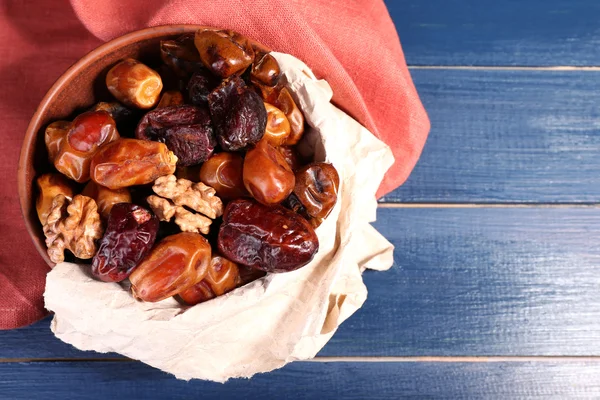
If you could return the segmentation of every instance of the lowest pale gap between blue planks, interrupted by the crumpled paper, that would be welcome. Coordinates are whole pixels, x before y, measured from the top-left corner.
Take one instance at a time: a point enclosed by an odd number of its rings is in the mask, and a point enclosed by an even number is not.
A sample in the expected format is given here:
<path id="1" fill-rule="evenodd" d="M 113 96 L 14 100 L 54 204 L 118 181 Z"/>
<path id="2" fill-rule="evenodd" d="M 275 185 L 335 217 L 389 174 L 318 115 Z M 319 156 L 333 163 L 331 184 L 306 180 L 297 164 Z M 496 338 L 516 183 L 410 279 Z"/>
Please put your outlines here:
<path id="1" fill-rule="evenodd" d="M 405 356 L 405 357 L 315 357 L 312 360 L 299 362 L 317 363 L 525 363 L 525 362 L 590 362 L 600 364 L 600 356 Z M 137 362 L 130 358 L 3 358 L 0 363 L 34 363 L 34 362 Z"/>

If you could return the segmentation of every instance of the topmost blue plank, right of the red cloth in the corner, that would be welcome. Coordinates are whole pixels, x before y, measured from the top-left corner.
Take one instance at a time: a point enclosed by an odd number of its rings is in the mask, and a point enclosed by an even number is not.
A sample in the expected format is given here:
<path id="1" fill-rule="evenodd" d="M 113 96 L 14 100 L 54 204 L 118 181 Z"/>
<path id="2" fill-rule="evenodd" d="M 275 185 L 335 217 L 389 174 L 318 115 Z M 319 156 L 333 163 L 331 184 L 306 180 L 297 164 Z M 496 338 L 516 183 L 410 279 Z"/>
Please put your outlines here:
<path id="1" fill-rule="evenodd" d="M 600 2 L 386 0 L 411 65 L 600 65 Z"/>

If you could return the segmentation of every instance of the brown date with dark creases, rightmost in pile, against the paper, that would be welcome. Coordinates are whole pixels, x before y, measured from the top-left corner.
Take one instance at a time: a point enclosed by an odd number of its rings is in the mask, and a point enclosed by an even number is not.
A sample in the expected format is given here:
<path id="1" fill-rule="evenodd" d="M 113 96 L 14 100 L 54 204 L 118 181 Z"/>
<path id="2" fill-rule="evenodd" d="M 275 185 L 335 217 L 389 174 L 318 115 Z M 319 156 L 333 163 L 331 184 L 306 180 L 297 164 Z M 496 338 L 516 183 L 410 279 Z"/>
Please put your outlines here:
<path id="1" fill-rule="evenodd" d="M 331 164 L 312 163 L 296 172 L 294 194 L 315 219 L 313 226 L 318 226 L 335 206 L 339 186 L 340 177 Z"/>

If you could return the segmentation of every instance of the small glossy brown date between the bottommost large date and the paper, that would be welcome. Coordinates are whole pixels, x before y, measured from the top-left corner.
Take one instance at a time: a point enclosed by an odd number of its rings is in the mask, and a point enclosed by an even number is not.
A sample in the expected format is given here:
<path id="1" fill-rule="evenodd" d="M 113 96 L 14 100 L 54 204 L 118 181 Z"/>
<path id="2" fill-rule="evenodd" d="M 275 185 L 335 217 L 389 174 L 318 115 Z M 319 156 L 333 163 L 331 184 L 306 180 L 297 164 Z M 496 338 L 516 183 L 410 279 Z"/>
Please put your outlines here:
<path id="1" fill-rule="evenodd" d="M 193 306 L 232 291 L 241 283 L 236 263 L 221 256 L 213 256 L 206 277 L 179 293 L 181 299 Z"/>

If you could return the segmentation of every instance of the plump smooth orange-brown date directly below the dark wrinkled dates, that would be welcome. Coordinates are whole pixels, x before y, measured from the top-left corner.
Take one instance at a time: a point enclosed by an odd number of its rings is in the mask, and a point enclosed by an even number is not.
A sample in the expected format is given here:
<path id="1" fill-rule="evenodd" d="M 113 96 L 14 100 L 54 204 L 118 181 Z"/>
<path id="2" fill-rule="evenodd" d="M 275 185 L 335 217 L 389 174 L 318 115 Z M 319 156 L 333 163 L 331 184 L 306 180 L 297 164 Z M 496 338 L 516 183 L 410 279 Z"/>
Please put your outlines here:
<path id="1" fill-rule="evenodd" d="M 252 197 L 266 205 L 285 200 L 295 185 L 294 173 L 287 161 L 265 140 L 246 153 L 243 179 Z"/>

